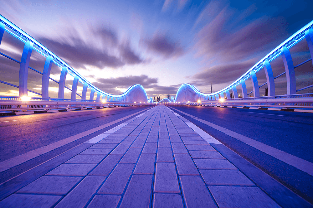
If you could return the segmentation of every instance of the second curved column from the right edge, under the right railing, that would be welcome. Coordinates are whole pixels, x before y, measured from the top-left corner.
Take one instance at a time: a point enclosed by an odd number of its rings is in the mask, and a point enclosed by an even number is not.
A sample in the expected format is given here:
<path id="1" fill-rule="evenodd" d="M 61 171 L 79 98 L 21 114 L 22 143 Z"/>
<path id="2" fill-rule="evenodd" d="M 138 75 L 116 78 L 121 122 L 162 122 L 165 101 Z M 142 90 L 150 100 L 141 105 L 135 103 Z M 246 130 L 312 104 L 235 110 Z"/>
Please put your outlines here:
<path id="1" fill-rule="evenodd" d="M 293 65 L 290 51 L 286 47 L 283 47 L 280 49 L 280 53 L 285 65 L 287 94 L 295 94 L 295 67 Z"/>

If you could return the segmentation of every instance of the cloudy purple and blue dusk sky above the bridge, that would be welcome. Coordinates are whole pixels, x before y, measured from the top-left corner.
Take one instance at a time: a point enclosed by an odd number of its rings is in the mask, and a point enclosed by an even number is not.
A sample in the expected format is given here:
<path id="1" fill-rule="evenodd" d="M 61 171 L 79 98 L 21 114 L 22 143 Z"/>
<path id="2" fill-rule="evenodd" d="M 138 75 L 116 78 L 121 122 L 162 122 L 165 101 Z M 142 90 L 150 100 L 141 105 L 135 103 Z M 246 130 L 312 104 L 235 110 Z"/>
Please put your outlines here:
<path id="1" fill-rule="evenodd" d="M 228 86 L 312 21 L 312 8 L 308 0 L 0 2 L 1 15 L 99 89 L 121 94 L 141 84 L 149 97 L 163 98 L 174 96 L 183 83 L 204 93 L 210 93 L 211 83 L 213 92 Z M 300 52 L 290 49 L 295 65 L 310 58 L 305 41 L 297 47 Z M 20 60 L 22 51 L 22 43 L 4 34 L 0 52 Z M 275 61 L 280 67 L 282 60 Z M 296 72 L 300 87 L 312 81 L 311 65 Z M 42 72 L 44 58 L 33 51 L 30 66 Z M 1 80 L 18 85 L 17 63 L 1 56 L 0 67 Z M 60 70 L 53 65 L 50 77 L 59 80 Z M 259 84 L 266 82 L 264 74 L 257 76 Z M 72 80 L 67 76 L 68 87 Z M 284 77 L 275 85 L 284 90 Z M 18 95 L 16 88 L 0 86 L 2 94 Z M 40 86 L 41 75 L 29 71 L 28 89 L 40 93 Z M 247 87 L 249 91 L 252 85 Z M 56 83 L 50 82 L 49 89 L 55 93 L 50 97 L 57 96 Z M 69 90 L 65 93 L 70 97 Z"/>

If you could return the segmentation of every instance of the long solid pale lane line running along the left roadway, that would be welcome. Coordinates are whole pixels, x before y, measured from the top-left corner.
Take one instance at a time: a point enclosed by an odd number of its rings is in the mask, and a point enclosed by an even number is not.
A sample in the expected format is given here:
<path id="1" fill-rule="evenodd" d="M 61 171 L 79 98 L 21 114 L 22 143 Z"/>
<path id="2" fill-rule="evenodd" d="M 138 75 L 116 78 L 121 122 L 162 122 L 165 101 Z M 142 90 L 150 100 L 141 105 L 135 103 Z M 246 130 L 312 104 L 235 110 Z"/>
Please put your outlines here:
<path id="1" fill-rule="evenodd" d="M 145 109 L 146 110 L 146 109 Z M 88 131 L 85 131 L 85 132 L 82 132 L 82 133 L 79 133 L 79 134 L 76 134 L 74 136 L 70 136 L 68 138 L 65 138 L 65 139 L 62 139 L 60 141 L 57 141 L 57 142 L 54 142 L 54 143 L 51 143 L 51 144 L 48 144 L 47 146 L 44 146 L 44 147 L 41 147 L 41 148 L 38 148 L 38 149 L 34 149 L 32 151 L 29 151 L 29 152 L 26 152 L 24 154 L 21 154 L 21 155 L 18 155 L 16 157 L 12 157 L 8 160 L 5 160 L 3 162 L 0 162 L 0 172 L 3 172 L 5 170 L 8 170 L 10 169 L 11 167 L 14 167 L 14 166 L 17 166 L 17 165 L 20 165 L 22 164 L 23 162 L 26 162 L 28 160 L 31 160 L 35 157 L 38 157 L 40 155 L 43 155 L 47 152 L 50 152 L 51 150 L 54 150 L 56 148 L 59 148 L 59 147 L 62 147 L 68 143 L 71 143 L 73 141 L 76 141 L 77 139 L 80 139 L 80 138 L 83 138 L 91 133 L 95 133 L 103 128 L 106 128 L 110 125 L 113 125 L 115 123 L 118 123 L 124 119 L 128 119 L 129 117 L 132 117 L 138 113 L 141 113 L 141 112 L 144 112 L 145 110 L 141 110 L 137 113 L 134 113 L 134 114 L 131 114 L 131 115 L 128 115 L 128 116 L 125 116 L 121 119 L 117 119 L 115 121 L 112 121 L 110 123 L 106 123 L 106 124 L 103 124 L 101 126 L 98 126 L 96 128 L 92 128 Z"/>

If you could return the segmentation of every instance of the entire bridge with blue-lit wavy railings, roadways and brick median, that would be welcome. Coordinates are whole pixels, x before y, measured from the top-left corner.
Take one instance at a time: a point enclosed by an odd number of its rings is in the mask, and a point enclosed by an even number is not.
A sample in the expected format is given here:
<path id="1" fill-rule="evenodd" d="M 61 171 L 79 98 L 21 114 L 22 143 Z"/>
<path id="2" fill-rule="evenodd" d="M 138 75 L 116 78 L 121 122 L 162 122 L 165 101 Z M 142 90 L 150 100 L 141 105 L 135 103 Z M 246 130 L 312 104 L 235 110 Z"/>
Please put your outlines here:
<path id="1" fill-rule="evenodd" d="M 23 44 L 20 59 L 6 37 Z M 294 65 L 304 42 L 311 58 Z M 34 52 L 43 69 L 29 66 Z M 159 102 L 141 85 L 106 93 L 3 16 L 0 55 L 19 67 L 17 83 L 0 77 L 19 94 L 0 96 L 0 207 L 313 207 L 313 83 L 296 76 L 312 68 L 313 21 L 224 89 L 184 83 Z"/>

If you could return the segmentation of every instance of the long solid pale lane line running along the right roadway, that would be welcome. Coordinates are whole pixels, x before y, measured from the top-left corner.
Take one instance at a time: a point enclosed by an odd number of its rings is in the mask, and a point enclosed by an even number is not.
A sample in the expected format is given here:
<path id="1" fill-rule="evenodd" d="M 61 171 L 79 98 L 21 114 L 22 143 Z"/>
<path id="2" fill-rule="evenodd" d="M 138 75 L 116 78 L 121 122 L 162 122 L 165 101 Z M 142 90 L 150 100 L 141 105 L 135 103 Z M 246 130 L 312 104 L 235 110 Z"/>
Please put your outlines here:
<path id="1" fill-rule="evenodd" d="M 177 110 L 177 109 L 175 109 L 175 110 Z M 235 139 L 237 139 L 237 140 L 239 140 L 245 144 L 248 144 L 251 147 L 254 147 L 254 148 L 260 150 L 261 152 L 264 152 L 264 153 L 266 153 L 272 157 L 275 157 L 276 159 L 279 159 L 280 161 L 283 161 L 283 162 L 285 162 L 285 163 L 287 163 L 293 167 L 296 167 L 299 170 L 306 172 L 306 173 L 310 174 L 311 176 L 313 176 L 313 163 L 312 162 L 306 161 L 304 159 L 301 159 L 299 157 L 291 155 L 287 152 L 273 148 L 273 147 L 266 145 L 264 143 L 255 141 L 254 139 L 251 139 L 251 138 L 246 137 L 244 135 L 241 135 L 239 133 L 228 130 L 227 128 L 223 128 L 223 127 L 218 126 L 214 123 L 210 123 L 208 121 L 199 119 L 198 117 L 187 114 L 187 113 L 182 112 L 180 110 L 177 110 L 177 111 L 182 113 L 182 114 L 185 114 L 189 117 L 192 117 L 192 118 L 194 118 L 194 119 L 196 119 L 196 120 L 198 120 L 204 124 L 207 124 L 208 126 L 215 128 L 216 130 L 223 132 L 224 134 L 227 134 L 228 136 L 231 136 L 231 137 L 233 137 L 233 138 L 235 138 Z"/>

